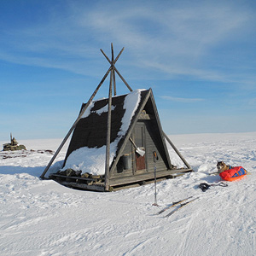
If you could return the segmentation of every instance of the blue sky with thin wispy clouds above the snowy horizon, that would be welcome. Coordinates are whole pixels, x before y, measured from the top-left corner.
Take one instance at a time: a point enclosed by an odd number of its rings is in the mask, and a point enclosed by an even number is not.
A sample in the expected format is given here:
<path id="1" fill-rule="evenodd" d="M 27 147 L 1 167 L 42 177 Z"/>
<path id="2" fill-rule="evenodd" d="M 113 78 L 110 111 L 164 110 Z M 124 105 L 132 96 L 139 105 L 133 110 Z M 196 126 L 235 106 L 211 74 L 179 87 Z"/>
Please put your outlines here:
<path id="1" fill-rule="evenodd" d="M 167 134 L 256 131 L 256 1 L 92 2 L 0 1 L 0 140 L 64 137 L 111 43 Z"/>

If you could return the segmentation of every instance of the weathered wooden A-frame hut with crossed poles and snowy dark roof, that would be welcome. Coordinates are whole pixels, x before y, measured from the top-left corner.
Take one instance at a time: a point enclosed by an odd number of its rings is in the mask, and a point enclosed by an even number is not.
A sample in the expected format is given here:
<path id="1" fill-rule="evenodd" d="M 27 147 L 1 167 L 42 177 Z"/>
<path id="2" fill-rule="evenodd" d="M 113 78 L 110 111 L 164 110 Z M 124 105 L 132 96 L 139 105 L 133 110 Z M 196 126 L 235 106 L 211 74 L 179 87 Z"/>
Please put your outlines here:
<path id="1" fill-rule="evenodd" d="M 41 177 L 44 178 L 72 132 L 62 169 L 49 176 L 68 187 L 112 191 L 152 182 L 154 175 L 156 178 L 171 178 L 184 172 L 192 172 L 187 161 L 162 131 L 152 90 L 131 90 L 114 67 L 124 48 L 114 60 L 113 45 L 111 46 L 112 61 L 102 51 L 111 67 L 89 102 L 82 105 L 78 119 Z M 92 101 L 108 73 L 108 99 Z M 116 96 L 115 73 L 118 73 L 131 91 L 129 94 Z M 183 160 L 185 168 L 177 169 L 172 165 L 166 141 Z M 154 152 L 158 156 L 156 162 Z"/>

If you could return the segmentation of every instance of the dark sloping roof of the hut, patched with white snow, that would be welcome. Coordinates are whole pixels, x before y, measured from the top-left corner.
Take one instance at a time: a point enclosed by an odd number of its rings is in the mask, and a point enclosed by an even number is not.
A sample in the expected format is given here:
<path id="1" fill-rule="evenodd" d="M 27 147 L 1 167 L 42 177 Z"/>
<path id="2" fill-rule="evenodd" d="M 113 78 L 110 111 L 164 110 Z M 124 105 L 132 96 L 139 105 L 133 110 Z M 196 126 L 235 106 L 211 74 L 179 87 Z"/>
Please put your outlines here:
<path id="1" fill-rule="evenodd" d="M 131 125 L 142 91 L 134 90 L 125 96 L 113 97 L 110 164 L 116 156 L 120 140 Z M 91 102 L 73 132 L 62 170 L 71 168 L 93 175 L 105 174 L 107 119 L 108 99 Z"/>

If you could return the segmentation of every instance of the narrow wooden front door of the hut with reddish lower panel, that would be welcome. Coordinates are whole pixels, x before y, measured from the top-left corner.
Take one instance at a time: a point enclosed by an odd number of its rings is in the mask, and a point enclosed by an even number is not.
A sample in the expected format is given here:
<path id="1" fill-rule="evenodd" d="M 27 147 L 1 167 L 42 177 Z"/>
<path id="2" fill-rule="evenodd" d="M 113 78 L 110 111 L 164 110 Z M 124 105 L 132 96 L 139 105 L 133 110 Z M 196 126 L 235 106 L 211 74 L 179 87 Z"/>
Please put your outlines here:
<path id="1" fill-rule="evenodd" d="M 137 148 L 143 148 L 145 150 L 145 125 L 143 123 L 137 124 L 134 129 L 134 142 Z M 140 154 L 137 154 L 137 152 L 135 151 L 135 161 L 135 172 L 146 171 L 146 154 L 142 156 Z"/>

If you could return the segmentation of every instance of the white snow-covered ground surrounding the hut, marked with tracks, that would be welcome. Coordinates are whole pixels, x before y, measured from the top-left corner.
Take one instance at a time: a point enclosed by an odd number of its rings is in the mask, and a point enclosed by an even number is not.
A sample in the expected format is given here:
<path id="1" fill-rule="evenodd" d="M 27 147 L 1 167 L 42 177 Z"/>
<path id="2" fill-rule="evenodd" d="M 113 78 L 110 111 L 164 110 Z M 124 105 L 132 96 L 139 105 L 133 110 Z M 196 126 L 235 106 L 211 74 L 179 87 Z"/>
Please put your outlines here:
<path id="1" fill-rule="evenodd" d="M 113 193 L 67 189 L 38 178 L 50 153 L 0 157 L 0 255 L 255 255 L 256 132 L 170 138 L 195 172 L 157 183 L 160 207 L 152 206 L 154 183 Z M 19 143 L 55 150 L 61 140 Z M 207 175 L 218 160 L 251 173 L 202 192 L 199 183 L 220 181 Z M 154 215 L 191 195 L 199 199 L 171 217 Z"/>

